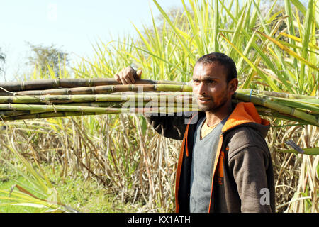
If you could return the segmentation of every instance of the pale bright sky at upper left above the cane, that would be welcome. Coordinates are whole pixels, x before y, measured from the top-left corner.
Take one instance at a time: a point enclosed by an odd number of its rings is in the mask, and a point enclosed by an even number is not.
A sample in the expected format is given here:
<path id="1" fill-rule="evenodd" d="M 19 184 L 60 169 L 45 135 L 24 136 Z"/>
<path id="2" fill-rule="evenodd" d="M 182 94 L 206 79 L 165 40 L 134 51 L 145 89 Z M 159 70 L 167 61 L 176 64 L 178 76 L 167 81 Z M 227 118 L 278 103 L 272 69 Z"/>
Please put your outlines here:
<path id="1" fill-rule="evenodd" d="M 169 9 L 181 6 L 180 0 L 157 0 Z M 152 16 L 159 15 L 152 0 L 1 0 L 0 48 L 6 55 L 6 75 L 0 82 L 14 81 L 25 70 L 25 62 L 31 54 L 26 42 L 33 45 L 60 48 L 77 55 L 92 57 L 92 44 L 108 43 L 118 36 L 137 37 L 132 23 L 138 29 L 152 25 Z M 71 63 L 72 65 L 72 63 Z"/>

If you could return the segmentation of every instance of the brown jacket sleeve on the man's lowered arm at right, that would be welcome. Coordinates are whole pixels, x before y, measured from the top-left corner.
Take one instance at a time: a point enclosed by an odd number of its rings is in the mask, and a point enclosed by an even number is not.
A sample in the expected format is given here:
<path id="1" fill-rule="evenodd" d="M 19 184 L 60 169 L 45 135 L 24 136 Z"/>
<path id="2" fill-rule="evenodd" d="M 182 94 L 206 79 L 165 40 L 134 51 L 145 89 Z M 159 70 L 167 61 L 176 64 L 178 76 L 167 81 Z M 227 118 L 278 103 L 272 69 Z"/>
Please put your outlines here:
<path id="1" fill-rule="evenodd" d="M 237 150 L 228 160 L 237 184 L 242 212 L 274 212 L 267 180 L 268 155 L 264 149 L 253 145 Z"/>

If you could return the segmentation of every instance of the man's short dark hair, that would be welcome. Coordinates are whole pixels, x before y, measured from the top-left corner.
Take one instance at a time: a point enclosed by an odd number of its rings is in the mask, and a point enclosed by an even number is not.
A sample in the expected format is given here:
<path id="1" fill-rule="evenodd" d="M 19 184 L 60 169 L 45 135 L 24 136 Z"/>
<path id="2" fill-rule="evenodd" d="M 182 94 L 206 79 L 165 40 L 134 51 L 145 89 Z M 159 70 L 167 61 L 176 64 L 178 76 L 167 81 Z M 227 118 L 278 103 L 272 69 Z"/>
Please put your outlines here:
<path id="1" fill-rule="evenodd" d="M 220 65 L 223 65 L 225 67 L 227 74 L 226 82 L 230 82 L 230 80 L 237 78 L 235 62 L 233 61 L 233 59 L 221 52 L 211 52 L 208 55 L 203 55 L 197 60 L 196 64 L 201 63 L 203 65 L 208 65 L 213 62 L 219 62 Z"/>

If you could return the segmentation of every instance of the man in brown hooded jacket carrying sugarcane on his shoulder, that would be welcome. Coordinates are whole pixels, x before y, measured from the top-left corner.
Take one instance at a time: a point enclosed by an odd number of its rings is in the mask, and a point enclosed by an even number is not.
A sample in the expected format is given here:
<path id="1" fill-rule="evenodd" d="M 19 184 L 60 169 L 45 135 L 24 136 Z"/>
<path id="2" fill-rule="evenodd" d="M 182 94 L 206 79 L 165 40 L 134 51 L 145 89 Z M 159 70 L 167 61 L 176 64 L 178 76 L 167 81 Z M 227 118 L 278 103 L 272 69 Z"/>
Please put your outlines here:
<path id="1" fill-rule="evenodd" d="M 128 67 L 114 76 L 131 84 L 141 71 Z M 274 212 L 272 159 L 264 140 L 269 121 L 252 103 L 233 105 L 238 85 L 235 62 L 219 52 L 194 66 L 193 94 L 198 113 L 150 116 L 167 138 L 183 140 L 176 179 L 177 212 Z"/>

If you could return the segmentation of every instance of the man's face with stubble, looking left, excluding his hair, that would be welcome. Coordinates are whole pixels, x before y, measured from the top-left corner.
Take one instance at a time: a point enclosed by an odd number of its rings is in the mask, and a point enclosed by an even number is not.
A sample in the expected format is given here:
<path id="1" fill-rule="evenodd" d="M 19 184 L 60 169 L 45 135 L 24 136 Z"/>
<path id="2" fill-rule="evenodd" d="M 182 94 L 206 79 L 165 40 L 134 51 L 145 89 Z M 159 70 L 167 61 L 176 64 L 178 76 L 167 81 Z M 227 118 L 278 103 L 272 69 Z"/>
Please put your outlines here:
<path id="1" fill-rule="evenodd" d="M 193 94 L 197 98 L 198 109 L 216 113 L 231 99 L 226 77 L 225 67 L 219 62 L 195 65 Z"/>

